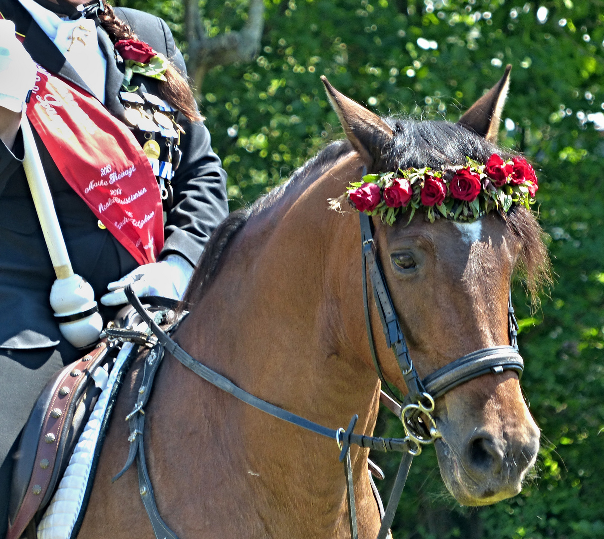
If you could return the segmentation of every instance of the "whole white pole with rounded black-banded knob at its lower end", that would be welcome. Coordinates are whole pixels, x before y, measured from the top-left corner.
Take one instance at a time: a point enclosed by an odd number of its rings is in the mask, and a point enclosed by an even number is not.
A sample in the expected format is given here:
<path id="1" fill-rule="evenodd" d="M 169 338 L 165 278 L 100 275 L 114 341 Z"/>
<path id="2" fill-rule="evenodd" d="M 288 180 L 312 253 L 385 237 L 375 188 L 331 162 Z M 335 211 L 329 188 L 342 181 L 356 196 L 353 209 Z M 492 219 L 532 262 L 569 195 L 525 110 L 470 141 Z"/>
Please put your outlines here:
<path id="1" fill-rule="evenodd" d="M 21 130 L 25 145 L 23 166 L 42 225 L 44 238 L 53 261 L 57 280 L 50 292 L 50 305 L 59 322 L 61 333 L 73 346 L 83 348 L 98 340 L 103 319 L 94 301 L 94 290 L 86 279 L 74 274 L 54 208 L 53 196 L 42 167 L 30 122 L 23 114 Z"/>

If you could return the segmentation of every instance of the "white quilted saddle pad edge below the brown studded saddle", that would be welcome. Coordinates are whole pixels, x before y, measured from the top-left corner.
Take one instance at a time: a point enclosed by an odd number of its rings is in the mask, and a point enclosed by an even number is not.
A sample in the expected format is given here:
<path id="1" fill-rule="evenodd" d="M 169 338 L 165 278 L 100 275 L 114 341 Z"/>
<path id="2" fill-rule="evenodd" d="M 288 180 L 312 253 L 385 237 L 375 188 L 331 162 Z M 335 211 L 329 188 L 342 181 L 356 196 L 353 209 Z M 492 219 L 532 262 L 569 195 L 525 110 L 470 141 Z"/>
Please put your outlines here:
<path id="1" fill-rule="evenodd" d="M 132 346 L 132 343 L 124 344 L 115 359 L 107 385 L 80 436 L 59 488 L 38 525 L 38 539 L 70 539 L 76 537 L 79 532 L 88 505 L 91 490 L 89 487 L 94 480 L 98 456 L 104 441 L 104 430 L 123 378 L 123 371 L 126 370 L 124 366 L 127 368 Z"/>

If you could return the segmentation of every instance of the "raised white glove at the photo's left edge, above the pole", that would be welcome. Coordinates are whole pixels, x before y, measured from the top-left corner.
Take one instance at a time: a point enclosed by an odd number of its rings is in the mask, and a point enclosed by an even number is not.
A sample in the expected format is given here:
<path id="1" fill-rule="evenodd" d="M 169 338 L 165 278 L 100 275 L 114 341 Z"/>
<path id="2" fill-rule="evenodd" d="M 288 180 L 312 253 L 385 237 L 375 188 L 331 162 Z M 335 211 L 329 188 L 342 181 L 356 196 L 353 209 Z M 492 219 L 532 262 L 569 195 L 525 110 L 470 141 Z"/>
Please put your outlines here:
<path id="1" fill-rule="evenodd" d="M 21 112 L 37 68 L 14 32 L 13 21 L 0 21 L 0 107 Z"/>

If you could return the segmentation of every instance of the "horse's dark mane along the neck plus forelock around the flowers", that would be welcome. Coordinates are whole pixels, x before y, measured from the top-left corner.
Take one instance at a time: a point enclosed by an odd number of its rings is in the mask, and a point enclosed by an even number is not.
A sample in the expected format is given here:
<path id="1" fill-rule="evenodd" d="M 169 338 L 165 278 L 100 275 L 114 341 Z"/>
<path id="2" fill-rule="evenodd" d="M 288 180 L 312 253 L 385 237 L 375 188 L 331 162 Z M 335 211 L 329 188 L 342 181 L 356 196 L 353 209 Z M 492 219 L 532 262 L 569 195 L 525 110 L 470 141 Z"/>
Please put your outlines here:
<path id="1" fill-rule="evenodd" d="M 463 165 L 466 163 L 466 156 L 484 163 L 492 153 L 498 153 L 503 158 L 515 155 L 460 124 L 448 121 L 418 121 L 396 116 L 383 119 L 392 127 L 395 135 L 377 159 L 379 171 Z M 351 151 L 353 146 L 347 139 L 331 142 L 295 170 L 286 182 L 257 199 L 251 206 L 231 212 L 214 230 L 206 244 L 181 308 L 190 308 L 190 305 L 196 304 L 202 298 L 217 273 L 226 247 L 251 217 L 270 211 L 293 187 L 308 187 Z M 297 193 L 300 192 L 301 190 L 297 190 Z M 522 279 L 533 304 L 538 304 L 539 292 L 544 285 L 551 282 L 550 260 L 543 241 L 544 232 L 533 213 L 519 206 L 510 209 L 506 222 L 522 243 L 516 274 Z"/>

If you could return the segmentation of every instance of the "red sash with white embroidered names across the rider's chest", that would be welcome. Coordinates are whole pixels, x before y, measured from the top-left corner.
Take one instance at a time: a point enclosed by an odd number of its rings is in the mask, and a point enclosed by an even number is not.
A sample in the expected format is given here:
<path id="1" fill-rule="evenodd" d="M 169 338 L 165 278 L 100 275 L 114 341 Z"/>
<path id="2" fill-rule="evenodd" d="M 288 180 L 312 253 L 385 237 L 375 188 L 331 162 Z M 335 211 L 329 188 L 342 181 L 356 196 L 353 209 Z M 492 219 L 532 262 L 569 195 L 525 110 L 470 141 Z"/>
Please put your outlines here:
<path id="1" fill-rule="evenodd" d="M 143 148 L 96 98 L 37 67 L 27 117 L 63 177 L 138 263 L 155 262 L 164 218 Z"/>

